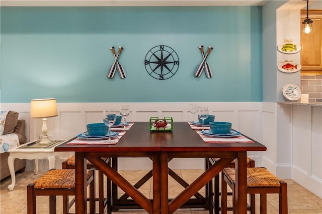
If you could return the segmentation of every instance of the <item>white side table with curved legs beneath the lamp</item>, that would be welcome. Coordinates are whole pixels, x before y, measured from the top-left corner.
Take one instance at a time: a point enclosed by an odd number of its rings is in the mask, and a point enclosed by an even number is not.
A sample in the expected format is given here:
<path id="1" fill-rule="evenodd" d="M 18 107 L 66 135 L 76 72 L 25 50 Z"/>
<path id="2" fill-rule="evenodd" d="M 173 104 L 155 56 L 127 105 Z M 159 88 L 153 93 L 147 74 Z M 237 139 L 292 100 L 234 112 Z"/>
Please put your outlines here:
<path id="1" fill-rule="evenodd" d="M 66 140 L 50 140 L 50 143 L 40 145 L 40 140 L 34 140 L 16 148 L 9 149 L 8 166 L 11 175 L 11 184 L 8 186 L 9 190 L 14 190 L 16 185 L 16 174 L 14 168 L 14 161 L 16 158 L 35 160 L 35 174 L 38 174 L 38 159 L 47 158 L 49 161 L 49 169 L 54 168 L 55 156 L 62 153 L 55 152 L 55 147 L 65 141 Z"/>

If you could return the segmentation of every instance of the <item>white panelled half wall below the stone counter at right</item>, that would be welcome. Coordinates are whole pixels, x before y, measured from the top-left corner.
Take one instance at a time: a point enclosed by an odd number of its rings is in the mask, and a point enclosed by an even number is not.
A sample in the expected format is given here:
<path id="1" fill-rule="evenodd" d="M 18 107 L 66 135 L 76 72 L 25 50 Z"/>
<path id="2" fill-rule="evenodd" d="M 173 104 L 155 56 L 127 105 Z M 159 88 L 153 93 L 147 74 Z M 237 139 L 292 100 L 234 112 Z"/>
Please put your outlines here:
<path id="1" fill-rule="evenodd" d="M 291 142 L 285 148 L 292 154 L 291 178 L 322 197 L 322 108 L 283 103 L 279 106 L 280 111 L 288 118 L 288 123 L 284 124 L 286 129 L 283 129 L 286 132 L 279 136 L 284 135 Z M 283 152 L 288 153 L 287 150 L 281 151 Z"/>

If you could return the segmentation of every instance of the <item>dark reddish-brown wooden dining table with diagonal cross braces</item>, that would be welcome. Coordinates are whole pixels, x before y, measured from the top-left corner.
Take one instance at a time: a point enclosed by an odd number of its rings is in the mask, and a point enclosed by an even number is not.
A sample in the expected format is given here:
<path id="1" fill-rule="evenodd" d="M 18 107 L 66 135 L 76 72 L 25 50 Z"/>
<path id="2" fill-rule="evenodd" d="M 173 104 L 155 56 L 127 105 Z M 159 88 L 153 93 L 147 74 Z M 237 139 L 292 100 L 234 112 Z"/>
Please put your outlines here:
<path id="1" fill-rule="evenodd" d="M 69 141 L 71 141 L 70 139 Z M 246 157 L 247 151 L 265 151 L 261 143 L 205 143 L 187 122 L 174 122 L 172 132 L 150 132 L 148 122 L 135 122 L 115 145 L 67 145 L 55 151 L 75 152 L 75 204 L 76 213 L 86 213 L 86 159 L 102 170 L 114 184 L 148 213 L 173 213 L 204 187 L 232 160 L 236 159 L 235 201 L 237 213 L 247 213 Z M 122 177 L 101 157 L 147 157 L 152 160 L 152 200 Z M 169 198 L 168 175 L 173 158 L 220 159 L 187 186 L 175 198 Z"/>

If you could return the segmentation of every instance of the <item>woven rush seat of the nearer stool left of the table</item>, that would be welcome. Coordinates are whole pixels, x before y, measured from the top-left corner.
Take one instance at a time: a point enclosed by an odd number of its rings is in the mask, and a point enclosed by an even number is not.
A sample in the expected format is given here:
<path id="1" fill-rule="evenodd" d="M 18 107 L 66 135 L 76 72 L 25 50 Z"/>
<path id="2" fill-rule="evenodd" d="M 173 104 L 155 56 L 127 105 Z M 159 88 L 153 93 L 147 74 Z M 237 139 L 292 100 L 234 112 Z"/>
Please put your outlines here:
<path id="1" fill-rule="evenodd" d="M 93 174 L 87 170 L 87 179 Z M 34 189 L 73 189 L 75 188 L 74 169 L 54 169 L 34 181 Z"/>

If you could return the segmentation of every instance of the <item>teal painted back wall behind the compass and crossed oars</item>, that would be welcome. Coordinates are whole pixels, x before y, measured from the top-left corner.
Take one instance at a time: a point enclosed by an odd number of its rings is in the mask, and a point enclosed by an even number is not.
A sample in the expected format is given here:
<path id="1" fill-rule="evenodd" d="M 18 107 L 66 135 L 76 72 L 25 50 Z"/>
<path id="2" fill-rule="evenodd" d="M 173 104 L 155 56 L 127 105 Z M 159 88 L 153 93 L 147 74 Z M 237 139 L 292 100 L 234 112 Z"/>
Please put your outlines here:
<path id="1" fill-rule="evenodd" d="M 149 49 L 172 47 L 168 80 L 144 68 Z M 212 46 L 213 77 L 194 77 L 198 46 Z M 111 46 L 127 77 L 108 79 Z M 262 101 L 262 7 L 2 7 L 1 102 Z"/>

